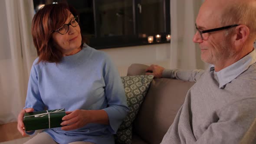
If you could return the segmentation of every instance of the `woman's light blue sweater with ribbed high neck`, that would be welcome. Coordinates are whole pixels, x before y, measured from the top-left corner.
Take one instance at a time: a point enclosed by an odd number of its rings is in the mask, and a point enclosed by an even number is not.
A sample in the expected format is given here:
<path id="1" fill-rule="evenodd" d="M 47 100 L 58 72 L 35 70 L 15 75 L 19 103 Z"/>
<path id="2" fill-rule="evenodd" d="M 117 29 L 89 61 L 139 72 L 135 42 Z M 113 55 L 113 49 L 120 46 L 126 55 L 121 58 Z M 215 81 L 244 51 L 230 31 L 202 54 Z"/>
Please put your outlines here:
<path id="1" fill-rule="evenodd" d="M 80 52 L 64 56 L 58 64 L 37 62 L 38 59 L 31 69 L 25 108 L 103 109 L 110 123 L 91 123 L 71 131 L 61 128 L 44 131 L 60 144 L 73 141 L 114 144 L 113 134 L 128 113 L 128 106 L 120 76 L 110 58 L 84 44 Z"/>

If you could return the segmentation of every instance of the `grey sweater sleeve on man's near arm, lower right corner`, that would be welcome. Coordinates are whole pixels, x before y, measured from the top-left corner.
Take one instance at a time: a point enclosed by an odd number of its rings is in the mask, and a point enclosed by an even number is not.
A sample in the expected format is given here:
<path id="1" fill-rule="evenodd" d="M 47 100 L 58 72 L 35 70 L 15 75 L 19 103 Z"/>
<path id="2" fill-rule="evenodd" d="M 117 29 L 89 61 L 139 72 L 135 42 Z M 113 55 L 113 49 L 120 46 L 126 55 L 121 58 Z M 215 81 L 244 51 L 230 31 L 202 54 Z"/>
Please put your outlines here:
<path id="1" fill-rule="evenodd" d="M 219 121 L 210 124 L 195 144 L 239 144 L 256 118 L 255 104 L 256 98 L 246 98 L 226 106 L 217 112 Z"/>

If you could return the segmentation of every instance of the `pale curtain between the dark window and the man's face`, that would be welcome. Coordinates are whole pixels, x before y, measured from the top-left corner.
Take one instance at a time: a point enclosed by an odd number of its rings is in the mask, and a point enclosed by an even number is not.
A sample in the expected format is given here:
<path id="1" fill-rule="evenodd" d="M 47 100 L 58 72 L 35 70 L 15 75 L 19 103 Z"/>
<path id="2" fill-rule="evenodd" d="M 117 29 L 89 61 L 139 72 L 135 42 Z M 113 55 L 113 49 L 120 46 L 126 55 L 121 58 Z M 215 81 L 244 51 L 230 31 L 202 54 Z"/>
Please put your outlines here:
<path id="1" fill-rule="evenodd" d="M 171 0 L 171 69 L 205 69 L 192 39 L 197 13 L 204 0 Z"/>

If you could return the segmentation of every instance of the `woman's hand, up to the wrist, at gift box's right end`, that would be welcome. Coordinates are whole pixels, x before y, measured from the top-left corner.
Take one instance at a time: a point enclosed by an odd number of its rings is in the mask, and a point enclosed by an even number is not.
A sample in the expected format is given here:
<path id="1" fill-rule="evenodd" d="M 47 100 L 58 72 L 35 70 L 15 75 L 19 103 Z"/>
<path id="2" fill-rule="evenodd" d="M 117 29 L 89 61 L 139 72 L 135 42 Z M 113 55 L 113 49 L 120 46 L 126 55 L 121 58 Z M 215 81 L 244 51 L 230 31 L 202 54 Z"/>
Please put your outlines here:
<path id="1" fill-rule="evenodd" d="M 66 125 L 61 128 L 64 131 L 82 128 L 91 121 L 90 112 L 87 110 L 66 111 L 66 114 L 60 124 L 62 126 Z"/>

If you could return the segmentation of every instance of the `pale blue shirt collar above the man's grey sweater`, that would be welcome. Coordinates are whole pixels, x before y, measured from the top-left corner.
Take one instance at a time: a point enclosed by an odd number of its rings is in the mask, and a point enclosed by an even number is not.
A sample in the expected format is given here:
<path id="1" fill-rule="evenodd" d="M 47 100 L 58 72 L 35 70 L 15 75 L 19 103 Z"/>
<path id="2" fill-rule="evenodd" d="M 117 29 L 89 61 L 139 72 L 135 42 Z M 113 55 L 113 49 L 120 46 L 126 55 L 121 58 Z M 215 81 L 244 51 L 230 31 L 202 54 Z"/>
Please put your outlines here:
<path id="1" fill-rule="evenodd" d="M 219 88 L 224 88 L 224 86 L 236 79 L 238 75 L 246 71 L 250 65 L 256 62 L 256 50 L 253 49 L 248 55 L 240 59 L 239 61 L 233 63 L 232 65 L 226 67 L 225 69 L 216 72 L 219 79 Z M 210 71 L 214 70 L 214 65 L 210 66 Z"/>

